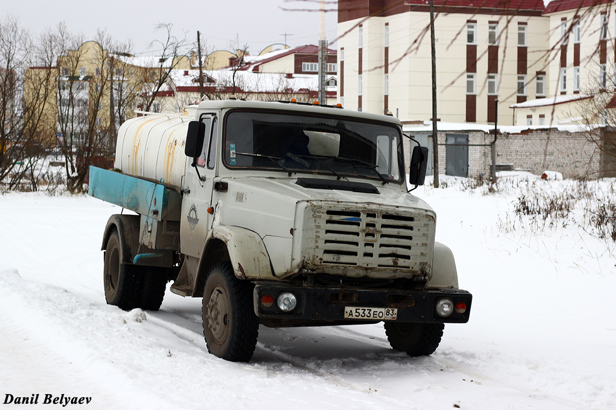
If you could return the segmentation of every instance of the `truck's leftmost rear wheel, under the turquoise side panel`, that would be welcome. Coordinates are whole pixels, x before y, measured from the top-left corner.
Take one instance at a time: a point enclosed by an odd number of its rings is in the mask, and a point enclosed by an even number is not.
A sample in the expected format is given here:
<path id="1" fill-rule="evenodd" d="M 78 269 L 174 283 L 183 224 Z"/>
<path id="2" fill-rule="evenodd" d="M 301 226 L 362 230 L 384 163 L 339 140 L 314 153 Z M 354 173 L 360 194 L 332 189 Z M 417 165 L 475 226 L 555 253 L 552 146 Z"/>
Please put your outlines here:
<path id="1" fill-rule="evenodd" d="M 120 238 L 113 231 L 105 248 L 103 285 L 107 304 L 131 310 L 139 304 L 141 275 L 136 266 L 123 264 L 120 259 Z"/>

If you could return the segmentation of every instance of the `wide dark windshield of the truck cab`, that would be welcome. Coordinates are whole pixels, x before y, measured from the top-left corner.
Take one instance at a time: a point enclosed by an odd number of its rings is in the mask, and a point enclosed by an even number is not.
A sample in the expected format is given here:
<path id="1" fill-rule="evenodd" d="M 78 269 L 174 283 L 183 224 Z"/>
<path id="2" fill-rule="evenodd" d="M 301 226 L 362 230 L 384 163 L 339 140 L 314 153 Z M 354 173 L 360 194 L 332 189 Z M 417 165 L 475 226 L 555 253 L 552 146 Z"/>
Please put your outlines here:
<path id="1" fill-rule="evenodd" d="M 395 125 L 301 114 L 232 111 L 225 165 L 402 181 L 402 139 Z"/>

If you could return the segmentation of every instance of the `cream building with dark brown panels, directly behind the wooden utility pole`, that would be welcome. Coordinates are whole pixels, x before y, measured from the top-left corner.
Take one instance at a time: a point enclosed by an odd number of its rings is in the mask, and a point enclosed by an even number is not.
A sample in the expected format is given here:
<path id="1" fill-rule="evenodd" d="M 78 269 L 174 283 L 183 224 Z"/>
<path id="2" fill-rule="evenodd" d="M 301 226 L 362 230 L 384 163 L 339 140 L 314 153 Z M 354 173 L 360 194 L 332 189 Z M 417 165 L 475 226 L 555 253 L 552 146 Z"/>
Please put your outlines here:
<path id="1" fill-rule="evenodd" d="M 509 105 L 535 98 L 548 30 L 541 0 L 435 0 L 438 118 L 511 125 Z M 429 6 L 338 2 L 339 101 L 403 120 L 432 117 Z M 525 85 L 520 89 L 519 82 Z M 543 80 L 545 81 L 545 79 Z"/>

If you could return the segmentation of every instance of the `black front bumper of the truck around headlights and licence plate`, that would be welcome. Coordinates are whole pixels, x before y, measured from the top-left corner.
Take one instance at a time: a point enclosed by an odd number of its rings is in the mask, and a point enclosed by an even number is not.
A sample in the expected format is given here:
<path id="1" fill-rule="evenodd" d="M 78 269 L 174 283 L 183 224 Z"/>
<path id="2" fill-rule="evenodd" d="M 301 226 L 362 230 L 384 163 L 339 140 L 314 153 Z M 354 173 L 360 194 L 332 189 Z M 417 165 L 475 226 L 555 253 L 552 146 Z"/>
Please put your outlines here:
<path id="1" fill-rule="evenodd" d="M 297 305 L 291 312 L 278 309 L 278 295 L 291 292 L 296 296 Z M 261 298 L 270 295 L 274 304 L 266 307 Z M 466 305 L 464 313 L 455 310 L 448 317 L 436 313 L 436 303 L 443 298 Z M 254 287 L 254 312 L 264 319 L 298 321 L 345 321 L 358 323 L 355 319 L 344 318 L 344 308 L 371 307 L 397 309 L 397 322 L 407 323 L 466 323 L 471 312 L 472 295 L 464 290 L 395 290 L 395 289 L 357 289 L 328 287 L 295 287 L 256 283 Z M 378 320 L 370 320 L 372 322 Z"/>

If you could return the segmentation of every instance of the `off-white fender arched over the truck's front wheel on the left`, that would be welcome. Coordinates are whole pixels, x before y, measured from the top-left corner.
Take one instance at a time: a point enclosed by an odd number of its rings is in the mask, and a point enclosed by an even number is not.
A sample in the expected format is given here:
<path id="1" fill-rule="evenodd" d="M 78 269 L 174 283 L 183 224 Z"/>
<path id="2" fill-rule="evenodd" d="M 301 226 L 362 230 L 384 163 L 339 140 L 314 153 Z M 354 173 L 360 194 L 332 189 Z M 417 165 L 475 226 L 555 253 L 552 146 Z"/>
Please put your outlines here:
<path id="1" fill-rule="evenodd" d="M 221 240 L 227 246 L 236 277 L 240 279 L 274 278 L 267 249 L 256 232 L 238 226 L 215 226 L 208 234 L 205 249 L 208 249 L 208 243 L 211 240 L 216 239 Z M 207 258 L 206 253 L 202 255 Z"/>

